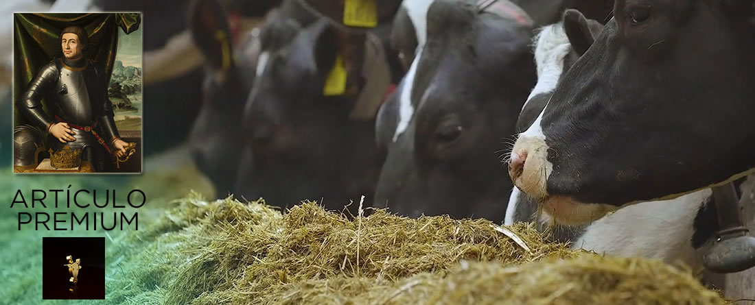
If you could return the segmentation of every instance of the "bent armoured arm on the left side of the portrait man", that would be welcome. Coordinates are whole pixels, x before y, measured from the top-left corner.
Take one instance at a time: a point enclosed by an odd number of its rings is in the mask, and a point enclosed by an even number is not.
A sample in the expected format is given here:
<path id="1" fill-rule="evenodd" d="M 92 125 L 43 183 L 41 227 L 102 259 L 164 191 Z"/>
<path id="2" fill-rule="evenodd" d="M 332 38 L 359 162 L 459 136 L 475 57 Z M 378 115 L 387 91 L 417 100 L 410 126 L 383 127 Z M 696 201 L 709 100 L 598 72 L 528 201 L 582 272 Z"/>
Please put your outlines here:
<path id="1" fill-rule="evenodd" d="M 45 132 L 49 132 L 50 126 L 55 122 L 42 109 L 42 97 L 52 90 L 57 77 L 57 67 L 54 63 L 43 67 L 29 83 L 21 99 L 16 102 L 21 114 Z"/>

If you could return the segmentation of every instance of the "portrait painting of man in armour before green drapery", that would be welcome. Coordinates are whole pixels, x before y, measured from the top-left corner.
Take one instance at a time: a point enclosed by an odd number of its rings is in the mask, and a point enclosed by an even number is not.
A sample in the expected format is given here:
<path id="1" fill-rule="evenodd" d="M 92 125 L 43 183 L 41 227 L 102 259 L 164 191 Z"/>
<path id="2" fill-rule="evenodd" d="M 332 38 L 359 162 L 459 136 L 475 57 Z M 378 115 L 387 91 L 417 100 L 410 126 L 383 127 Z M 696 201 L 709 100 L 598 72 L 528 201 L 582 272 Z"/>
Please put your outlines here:
<path id="1" fill-rule="evenodd" d="M 14 172 L 142 171 L 141 21 L 14 14 Z"/>

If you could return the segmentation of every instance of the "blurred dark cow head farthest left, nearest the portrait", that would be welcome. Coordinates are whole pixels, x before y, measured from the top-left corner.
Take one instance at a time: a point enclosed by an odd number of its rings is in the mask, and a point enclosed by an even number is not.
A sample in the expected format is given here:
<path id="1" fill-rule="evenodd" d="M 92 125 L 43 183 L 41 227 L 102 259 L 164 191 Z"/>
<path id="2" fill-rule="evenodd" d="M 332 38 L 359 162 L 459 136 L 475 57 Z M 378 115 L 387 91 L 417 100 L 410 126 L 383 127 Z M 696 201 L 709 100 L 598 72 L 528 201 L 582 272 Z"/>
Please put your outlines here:
<path id="1" fill-rule="evenodd" d="M 214 0 L 198 0 L 190 10 L 190 30 L 194 44 L 205 56 L 202 108 L 190 130 L 189 146 L 193 160 L 213 183 L 217 196 L 233 188 L 239 153 L 239 122 L 246 92 L 254 75 L 259 49 L 256 35 L 233 46 L 223 7 Z M 242 56 L 239 56 L 242 55 Z"/>

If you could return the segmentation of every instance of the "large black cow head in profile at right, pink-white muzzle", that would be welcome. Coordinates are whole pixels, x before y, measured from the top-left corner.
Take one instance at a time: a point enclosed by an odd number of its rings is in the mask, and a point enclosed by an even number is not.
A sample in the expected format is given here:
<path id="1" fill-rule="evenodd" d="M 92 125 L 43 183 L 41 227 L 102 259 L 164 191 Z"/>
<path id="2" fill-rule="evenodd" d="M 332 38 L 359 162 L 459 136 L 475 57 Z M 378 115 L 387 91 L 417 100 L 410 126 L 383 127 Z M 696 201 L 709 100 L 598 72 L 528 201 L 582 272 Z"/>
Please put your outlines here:
<path id="1" fill-rule="evenodd" d="M 511 154 L 563 224 L 719 185 L 755 167 L 752 2 L 617 0 Z"/>

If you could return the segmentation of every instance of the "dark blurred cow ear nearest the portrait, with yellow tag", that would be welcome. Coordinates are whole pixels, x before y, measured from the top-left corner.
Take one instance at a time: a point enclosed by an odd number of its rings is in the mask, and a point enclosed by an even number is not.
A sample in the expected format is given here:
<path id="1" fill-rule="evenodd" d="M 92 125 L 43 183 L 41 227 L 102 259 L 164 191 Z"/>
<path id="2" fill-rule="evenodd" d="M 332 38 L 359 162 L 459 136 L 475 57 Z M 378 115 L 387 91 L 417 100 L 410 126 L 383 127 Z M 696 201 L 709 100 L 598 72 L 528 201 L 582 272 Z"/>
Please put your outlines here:
<path id="1" fill-rule="evenodd" d="M 233 45 L 223 5 L 217 0 L 193 0 L 189 9 L 189 28 L 199 50 L 214 71 L 234 66 Z"/>

